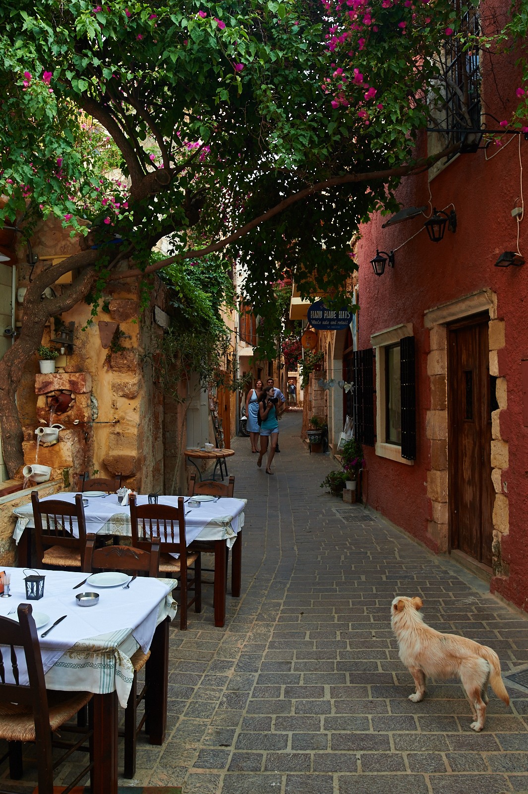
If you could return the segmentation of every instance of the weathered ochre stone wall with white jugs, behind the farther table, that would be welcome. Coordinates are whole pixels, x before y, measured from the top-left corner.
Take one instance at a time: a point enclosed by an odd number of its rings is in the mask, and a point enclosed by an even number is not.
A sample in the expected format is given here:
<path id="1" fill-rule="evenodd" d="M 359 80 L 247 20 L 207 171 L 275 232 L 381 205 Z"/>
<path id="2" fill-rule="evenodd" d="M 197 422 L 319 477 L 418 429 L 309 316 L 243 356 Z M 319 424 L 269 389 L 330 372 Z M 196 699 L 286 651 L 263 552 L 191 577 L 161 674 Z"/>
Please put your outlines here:
<path id="1" fill-rule="evenodd" d="M 55 221 L 44 222 L 32 242 L 40 259 L 48 256 L 46 264 L 78 250 Z M 22 265 L 19 287 L 27 285 L 29 275 Z M 54 285 L 57 293 L 63 289 L 67 284 Z M 58 322 L 52 319 L 43 344 L 58 346 L 51 340 L 60 325 L 74 322 L 73 346 L 56 360 L 55 374 L 37 374 L 35 357 L 22 377 L 17 402 L 25 462 L 36 460 L 36 427 L 58 422 L 64 428 L 59 441 L 40 445 L 38 462 L 51 466 L 52 479 L 65 488 L 78 488 L 85 472 L 90 477 L 121 473 L 125 485 L 142 491 L 163 488 L 163 391 L 153 362 L 166 291 L 157 276 L 147 279 L 146 289 L 150 301 L 141 309 L 136 279 L 114 280 L 105 287 L 96 317 L 90 317 L 90 306 L 78 303 Z M 59 403 L 54 413 L 52 403 Z"/>

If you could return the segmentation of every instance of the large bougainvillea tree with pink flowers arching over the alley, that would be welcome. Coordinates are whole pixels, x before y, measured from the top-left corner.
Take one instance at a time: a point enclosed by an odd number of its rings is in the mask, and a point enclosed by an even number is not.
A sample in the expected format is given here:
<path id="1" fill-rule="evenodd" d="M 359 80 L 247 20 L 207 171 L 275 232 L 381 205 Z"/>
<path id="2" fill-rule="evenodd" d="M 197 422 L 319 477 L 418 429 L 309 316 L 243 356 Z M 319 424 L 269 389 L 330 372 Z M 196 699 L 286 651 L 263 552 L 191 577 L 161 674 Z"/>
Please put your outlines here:
<path id="1" fill-rule="evenodd" d="M 0 362 L 12 476 L 14 397 L 44 324 L 110 276 L 229 247 L 263 336 L 284 272 L 301 294 L 323 282 L 339 299 L 359 223 L 446 154 L 417 156 L 415 142 L 442 96 L 442 42 L 471 44 L 460 18 L 448 0 L 3 0 L 0 218 L 30 236 L 52 214 L 82 237 L 75 256 L 36 265 Z M 524 40 L 526 0 L 484 33 L 497 56 Z M 506 124 L 526 123 L 516 113 Z M 161 237 L 174 253 L 149 264 Z"/>

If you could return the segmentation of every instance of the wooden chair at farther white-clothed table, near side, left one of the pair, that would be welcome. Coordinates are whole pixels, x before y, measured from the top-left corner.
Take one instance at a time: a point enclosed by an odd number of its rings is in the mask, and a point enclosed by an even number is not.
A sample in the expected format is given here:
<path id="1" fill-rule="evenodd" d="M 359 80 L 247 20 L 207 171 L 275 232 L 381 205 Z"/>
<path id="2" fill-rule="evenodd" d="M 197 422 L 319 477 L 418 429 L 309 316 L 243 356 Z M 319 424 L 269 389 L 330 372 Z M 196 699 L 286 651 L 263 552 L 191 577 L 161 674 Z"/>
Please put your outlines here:
<path id="1" fill-rule="evenodd" d="M 86 549 L 86 519 L 82 495 L 75 494 L 75 504 L 60 499 L 40 502 L 37 491 L 32 491 L 31 503 L 35 522 L 37 568 L 82 569 Z M 75 538 L 73 531 L 74 520 L 77 521 L 78 538 Z M 45 546 L 48 548 L 44 548 Z"/>

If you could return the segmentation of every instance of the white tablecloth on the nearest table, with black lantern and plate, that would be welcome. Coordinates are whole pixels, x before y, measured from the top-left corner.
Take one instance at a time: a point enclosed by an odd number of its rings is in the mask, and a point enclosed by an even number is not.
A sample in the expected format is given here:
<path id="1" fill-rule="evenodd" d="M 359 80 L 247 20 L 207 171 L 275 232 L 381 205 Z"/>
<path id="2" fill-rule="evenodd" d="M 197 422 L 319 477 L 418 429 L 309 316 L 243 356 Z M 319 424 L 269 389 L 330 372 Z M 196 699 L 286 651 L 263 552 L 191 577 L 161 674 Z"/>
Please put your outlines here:
<path id="1" fill-rule="evenodd" d="M 24 572 L 6 568 L 11 575 L 11 598 L 0 598 L 0 615 L 8 615 L 19 603 L 31 603 L 33 612 L 48 615 L 49 620 L 37 633 L 48 629 L 61 615 L 67 618 L 45 638 L 40 650 L 46 674 L 46 688 L 71 692 L 106 693 L 117 691 L 121 706 L 126 706 L 132 686 L 133 668 L 130 657 L 141 647 L 146 653 L 151 646 L 155 627 L 168 616 L 176 614 L 170 593 L 176 583 L 172 579 L 139 576 L 128 589 L 96 588 L 75 584 L 86 579 L 82 572 L 40 571 L 45 576 L 44 597 L 28 601 L 25 597 Z M 75 595 L 98 592 L 94 607 L 79 607 Z M 10 650 L 2 647 L 6 680 L 13 682 Z M 21 684 L 27 684 L 24 654 L 17 651 Z"/>

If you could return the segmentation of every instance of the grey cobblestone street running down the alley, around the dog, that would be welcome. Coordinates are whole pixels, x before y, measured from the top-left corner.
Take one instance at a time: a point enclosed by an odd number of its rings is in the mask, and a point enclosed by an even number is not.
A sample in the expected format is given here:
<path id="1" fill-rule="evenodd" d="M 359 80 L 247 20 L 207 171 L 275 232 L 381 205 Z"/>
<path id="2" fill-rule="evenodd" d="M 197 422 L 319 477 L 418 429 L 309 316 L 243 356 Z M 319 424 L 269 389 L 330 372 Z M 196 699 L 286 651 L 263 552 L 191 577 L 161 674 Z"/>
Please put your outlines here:
<path id="1" fill-rule="evenodd" d="M 511 707 L 490 690 L 481 734 L 457 682 L 411 703 L 389 605 L 419 595 L 430 626 L 491 646 L 503 674 L 528 661 L 528 620 L 323 493 L 331 461 L 309 456 L 299 431 L 300 414 L 286 414 L 276 476 L 258 470 L 248 439 L 232 444 L 235 495 L 248 499 L 242 596 L 228 594 L 215 628 L 206 587 L 202 614 L 171 633 L 168 741 L 140 746 L 137 781 L 183 794 L 527 792 L 528 690 L 507 681 Z"/>

